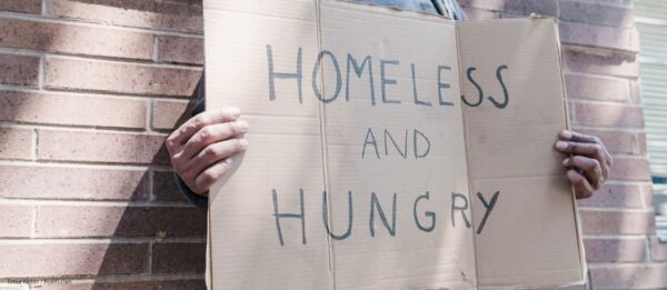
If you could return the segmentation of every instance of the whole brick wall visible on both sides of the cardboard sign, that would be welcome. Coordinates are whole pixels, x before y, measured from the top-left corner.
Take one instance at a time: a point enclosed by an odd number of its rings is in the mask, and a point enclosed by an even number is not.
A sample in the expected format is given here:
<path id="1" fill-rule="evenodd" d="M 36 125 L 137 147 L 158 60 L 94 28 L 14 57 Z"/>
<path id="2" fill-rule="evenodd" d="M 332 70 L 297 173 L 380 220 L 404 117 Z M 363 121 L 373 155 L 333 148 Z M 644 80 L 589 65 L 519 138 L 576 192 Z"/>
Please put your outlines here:
<path id="1" fill-rule="evenodd" d="M 588 286 L 666 288 L 630 1 L 460 2 L 472 19 L 563 20 L 573 124 L 616 161 L 580 202 Z M 162 144 L 187 118 L 201 29 L 200 0 L 0 0 L 0 284 L 203 287 L 205 214 L 175 189 Z"/>

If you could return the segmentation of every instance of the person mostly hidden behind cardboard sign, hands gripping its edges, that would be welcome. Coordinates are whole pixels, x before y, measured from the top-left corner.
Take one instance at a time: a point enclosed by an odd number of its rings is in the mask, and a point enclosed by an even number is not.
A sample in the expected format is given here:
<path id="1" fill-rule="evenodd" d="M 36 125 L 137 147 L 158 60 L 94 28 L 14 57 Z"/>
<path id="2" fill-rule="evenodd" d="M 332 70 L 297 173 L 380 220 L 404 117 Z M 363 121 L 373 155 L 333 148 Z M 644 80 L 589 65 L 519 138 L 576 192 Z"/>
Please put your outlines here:
<path id="1" fill-rule="evenodd" d="M 455 20 L 466 20 L 454 0 L 357 0 L 422 12 L 439 13 Z M 208 191 L 230 171 L 230 157 L 248 149 L 245 133 L 249 126 L 240 120 L 240 111 L 225 108 L 205 110 L 203 77 L 196 91 L 192 118 L 173 131 L 166 141 L 176 182 L 185 197 L 199 208 L 207 208 Z M 578 199 L 590 198 L 609 174 L 611 157 L 599 138 L 564 131 L 555 149 L 566 154 L 563 166 Z M 520 144 L 520 140 L 517 140 Z"/>

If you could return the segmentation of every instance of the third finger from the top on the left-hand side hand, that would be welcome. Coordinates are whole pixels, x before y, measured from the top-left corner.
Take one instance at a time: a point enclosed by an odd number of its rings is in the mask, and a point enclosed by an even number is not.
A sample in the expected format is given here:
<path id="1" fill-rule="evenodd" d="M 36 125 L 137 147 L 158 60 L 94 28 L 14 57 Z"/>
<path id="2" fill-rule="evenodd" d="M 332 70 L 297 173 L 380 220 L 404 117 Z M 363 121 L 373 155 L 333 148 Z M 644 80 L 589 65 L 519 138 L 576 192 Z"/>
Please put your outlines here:
<path id="1" fill-rule="evenodd" d="M 188 166 L 190 172 L 195 172 L 195 177 L 199 176 L 203 170 L 211 164 L 229 158 L 236 153 L 246 151 L 248 140 L 245 138 L 235 138 L 221 142 L 212 143 L 201 150 Z"/>

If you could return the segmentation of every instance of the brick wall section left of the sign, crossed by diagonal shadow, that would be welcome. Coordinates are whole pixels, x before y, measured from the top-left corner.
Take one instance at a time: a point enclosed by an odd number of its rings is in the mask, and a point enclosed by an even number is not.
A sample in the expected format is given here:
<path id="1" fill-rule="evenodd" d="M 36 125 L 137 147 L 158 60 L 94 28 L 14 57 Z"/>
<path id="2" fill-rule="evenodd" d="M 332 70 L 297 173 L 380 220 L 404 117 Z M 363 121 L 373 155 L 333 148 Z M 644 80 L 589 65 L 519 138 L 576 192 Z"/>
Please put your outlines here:
<path id="1" fill-rule="evenodd" d="M 201 1 L 0 0 L 0 282 L 203 288 L 163 147 L 202 62 Z"/>

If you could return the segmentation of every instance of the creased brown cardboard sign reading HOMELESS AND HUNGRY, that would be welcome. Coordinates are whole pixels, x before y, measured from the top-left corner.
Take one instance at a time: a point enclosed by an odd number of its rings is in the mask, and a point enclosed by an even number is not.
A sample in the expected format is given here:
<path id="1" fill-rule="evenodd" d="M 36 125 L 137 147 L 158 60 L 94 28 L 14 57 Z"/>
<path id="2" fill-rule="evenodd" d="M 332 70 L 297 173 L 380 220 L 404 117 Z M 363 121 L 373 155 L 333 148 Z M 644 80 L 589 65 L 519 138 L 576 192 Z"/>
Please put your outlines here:
<path id="1" fill-rule="evenodd" d="M 251 128 L 210 192 L 210 289 L 584 280 L 554 19 L 203 4 L 207 108 Z"/>

